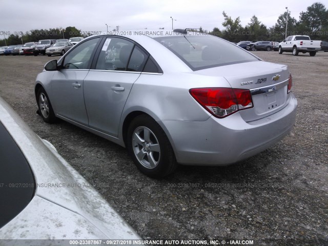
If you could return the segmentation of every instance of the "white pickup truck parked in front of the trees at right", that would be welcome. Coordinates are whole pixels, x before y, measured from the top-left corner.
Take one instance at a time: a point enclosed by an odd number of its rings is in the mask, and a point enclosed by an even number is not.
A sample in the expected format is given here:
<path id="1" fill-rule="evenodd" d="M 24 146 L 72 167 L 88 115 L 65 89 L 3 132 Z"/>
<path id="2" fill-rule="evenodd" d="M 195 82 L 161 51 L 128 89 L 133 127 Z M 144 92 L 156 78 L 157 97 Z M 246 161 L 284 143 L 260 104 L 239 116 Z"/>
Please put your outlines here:
<path id="1" fill-rule="evenodd" d="M 311 40 L 309 36 L 293 35 L 287 37 L 279 43 L 279 54 L 282 52 L 293 52 L 293 55 L 298 55 L 298 52 L 309 52 L 310 56 L 315 56 L 317 51 L 321 49 L 321 41 Z"/>

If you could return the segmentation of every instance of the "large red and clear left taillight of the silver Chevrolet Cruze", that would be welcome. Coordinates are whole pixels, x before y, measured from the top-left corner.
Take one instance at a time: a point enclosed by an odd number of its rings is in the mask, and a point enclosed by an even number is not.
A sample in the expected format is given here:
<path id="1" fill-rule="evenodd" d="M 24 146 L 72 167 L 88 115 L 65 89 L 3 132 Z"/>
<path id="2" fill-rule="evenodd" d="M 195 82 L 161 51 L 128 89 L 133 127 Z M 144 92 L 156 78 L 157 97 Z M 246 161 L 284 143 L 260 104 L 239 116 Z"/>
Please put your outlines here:
<path id="1" fill-rule="evenodd" d="M 194 88 L 189 92 L 204 109 L 218 118 L 226 117 L 239 110 L 253 108 L 250 90 Z"/>

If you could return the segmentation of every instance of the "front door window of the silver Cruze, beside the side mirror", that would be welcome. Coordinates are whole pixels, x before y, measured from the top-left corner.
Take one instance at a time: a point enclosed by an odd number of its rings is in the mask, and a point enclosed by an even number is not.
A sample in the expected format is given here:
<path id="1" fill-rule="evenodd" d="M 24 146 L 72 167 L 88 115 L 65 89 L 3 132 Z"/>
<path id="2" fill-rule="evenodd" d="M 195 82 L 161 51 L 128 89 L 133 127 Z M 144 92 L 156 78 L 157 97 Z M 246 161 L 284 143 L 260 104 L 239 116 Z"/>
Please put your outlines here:
<path id="1" fill-rule="evenodd" d="M 67 54 L 62 65 L 64 69 L 88 69 L 90 64 L 90 59 L 99 38 L 92 38 L 86 42 L 80 44 L 75 49 Z"/>

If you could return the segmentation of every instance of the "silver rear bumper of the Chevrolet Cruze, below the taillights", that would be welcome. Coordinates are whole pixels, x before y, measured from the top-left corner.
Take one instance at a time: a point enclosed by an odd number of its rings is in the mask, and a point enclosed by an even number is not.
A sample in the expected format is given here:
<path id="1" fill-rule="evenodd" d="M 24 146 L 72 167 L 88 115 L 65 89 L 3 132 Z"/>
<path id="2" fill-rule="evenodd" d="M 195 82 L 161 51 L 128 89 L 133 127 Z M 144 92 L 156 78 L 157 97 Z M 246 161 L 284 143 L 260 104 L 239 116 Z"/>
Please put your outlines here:
<path id="1" fill-rule="evenodd" d="M 268 149 L 295 124 L 297 100 L 293 94 L 282 110 L 245 122 L 239 113 L 206 121 L 164 120 L 176 159 L 183 165 L 226 166 Z"/>

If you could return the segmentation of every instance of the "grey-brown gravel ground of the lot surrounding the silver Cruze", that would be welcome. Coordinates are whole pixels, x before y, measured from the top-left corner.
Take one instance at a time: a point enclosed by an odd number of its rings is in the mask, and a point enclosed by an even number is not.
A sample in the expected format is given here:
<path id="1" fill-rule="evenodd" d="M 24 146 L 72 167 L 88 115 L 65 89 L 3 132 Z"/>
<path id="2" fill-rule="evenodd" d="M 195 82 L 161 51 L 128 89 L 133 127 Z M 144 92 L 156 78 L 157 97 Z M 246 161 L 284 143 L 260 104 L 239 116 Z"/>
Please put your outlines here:
<path id="1" fill-rule="evenodd" d="M 126 149 L 35 113 L 35 77 L 59 57 L 1 56 L 0 96 L 146 240 L 328 245 L 328 53 L 254 53 L 290 67 L 299 104 L 292 132 L 236 165 L 181 166 L 161 180 L 138 172 Z"/>

